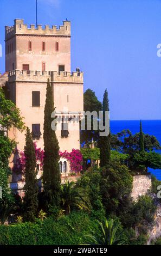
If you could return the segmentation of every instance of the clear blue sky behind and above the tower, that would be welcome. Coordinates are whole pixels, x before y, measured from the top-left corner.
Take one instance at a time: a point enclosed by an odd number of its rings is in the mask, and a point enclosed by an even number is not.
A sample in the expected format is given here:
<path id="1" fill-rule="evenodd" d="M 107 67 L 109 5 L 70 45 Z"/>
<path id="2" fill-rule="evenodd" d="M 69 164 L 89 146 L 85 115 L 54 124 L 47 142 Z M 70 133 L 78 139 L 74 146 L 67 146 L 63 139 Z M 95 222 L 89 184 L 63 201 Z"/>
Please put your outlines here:
<path id="1" fill-rule="evenodd" d="M 161 119 L 160 0 L 37 0 L 38 23 L 72 21 L 72 70 L 85 72 L 84 90 L 107 88 L 111 119 Z M 35 23 L 35 0 L 0 0 L 0 44 L 14 19 Z M 4 51 L 0 58 L 4 72 Z"/>

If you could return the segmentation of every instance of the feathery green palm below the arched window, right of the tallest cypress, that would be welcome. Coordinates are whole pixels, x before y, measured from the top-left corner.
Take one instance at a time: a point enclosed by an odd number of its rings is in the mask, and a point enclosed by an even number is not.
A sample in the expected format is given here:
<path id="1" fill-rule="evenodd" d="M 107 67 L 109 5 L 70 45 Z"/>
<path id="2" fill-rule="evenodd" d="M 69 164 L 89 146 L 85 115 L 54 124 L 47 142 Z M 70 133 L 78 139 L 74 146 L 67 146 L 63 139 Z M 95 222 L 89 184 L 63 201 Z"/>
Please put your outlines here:
<path id="1" fill-rule="evenodd" d="M 70 214 L 70 209 L 74 207 L 89 211 L 87 193 L 82 188 L 76 187 L 74 181 L 69 182 L 67 180 L 65 184 L 61 186 L 61 191 L 61 202 L 65 208 L 66 215 Z"/>

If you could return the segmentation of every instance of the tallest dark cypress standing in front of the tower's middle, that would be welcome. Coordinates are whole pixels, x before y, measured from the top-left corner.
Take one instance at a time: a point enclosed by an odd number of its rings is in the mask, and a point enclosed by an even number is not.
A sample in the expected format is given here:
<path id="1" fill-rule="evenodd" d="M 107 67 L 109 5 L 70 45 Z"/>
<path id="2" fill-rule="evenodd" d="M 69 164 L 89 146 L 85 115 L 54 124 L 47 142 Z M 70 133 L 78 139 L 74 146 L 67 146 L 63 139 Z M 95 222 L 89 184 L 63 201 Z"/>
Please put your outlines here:
<path id="1" fill-rule="evenodd" d="M 61 176 L 59 170 L 59 143 L 55 131 L 51 129 L 51 113 L 55 110 L 53 90 L 48 79 L 46 105 L 44 108 L 44 160 L 43 160 L 43 185 L 46 207 L 60 204 Z"/>

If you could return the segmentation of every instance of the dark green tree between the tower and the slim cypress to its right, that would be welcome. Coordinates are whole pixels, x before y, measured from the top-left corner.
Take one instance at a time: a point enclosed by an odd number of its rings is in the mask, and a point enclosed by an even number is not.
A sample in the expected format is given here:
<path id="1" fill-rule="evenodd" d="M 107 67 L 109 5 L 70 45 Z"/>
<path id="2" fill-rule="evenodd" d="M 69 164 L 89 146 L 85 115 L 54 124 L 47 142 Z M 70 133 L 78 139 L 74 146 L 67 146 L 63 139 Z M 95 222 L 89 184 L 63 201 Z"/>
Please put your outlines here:
<path id="1" fill-rule="evenodd" d="M 102 110 L 102 104 L 95 96 L 95 93 L 91 89 L 87 89 L 84 93 L 84 111 L 96 111 L 97 113 Z M 93 121 L 91 124 L 91 131 L 85 130 L 80 132 L 80 143 L 88 143 L 89 141 L 97 141 L 99 132 L 93 130 Z"/>

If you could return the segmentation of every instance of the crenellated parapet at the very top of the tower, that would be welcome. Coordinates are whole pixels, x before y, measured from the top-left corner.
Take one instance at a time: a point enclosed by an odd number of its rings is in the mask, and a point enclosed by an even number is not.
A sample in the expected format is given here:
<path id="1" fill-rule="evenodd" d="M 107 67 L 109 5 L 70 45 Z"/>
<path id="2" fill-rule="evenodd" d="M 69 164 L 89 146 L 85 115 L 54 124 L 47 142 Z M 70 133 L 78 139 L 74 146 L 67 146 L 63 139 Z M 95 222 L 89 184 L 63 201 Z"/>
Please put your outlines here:
<path id="1" fill-rule="evenodd" d="M 27 24 L 24 24 L 24 20 L 16 19 L 14 20 L 14 26 L 5 26 L 5 40 L 10 39 L 14 34 L 26 34 L 26 35 L 55 35 L 55 36 L 70 36 L 70 21 L 63 21 L 63 25 L 52 26 L 45 25 L 42 28 L 42 25 L 30 25 L 28 28 Z"/>

